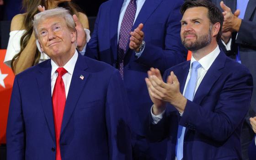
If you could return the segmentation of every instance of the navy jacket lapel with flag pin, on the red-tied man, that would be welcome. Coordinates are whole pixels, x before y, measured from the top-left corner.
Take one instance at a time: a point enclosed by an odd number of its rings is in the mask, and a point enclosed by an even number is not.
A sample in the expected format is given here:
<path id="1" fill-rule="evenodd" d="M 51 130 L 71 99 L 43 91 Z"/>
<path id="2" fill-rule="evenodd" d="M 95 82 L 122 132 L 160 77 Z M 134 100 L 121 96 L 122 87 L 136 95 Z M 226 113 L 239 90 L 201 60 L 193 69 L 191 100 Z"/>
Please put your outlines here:
<path id="1" fill-rule="evenodd" d="M 69 122 L 69 119 L 72 116 L 74 109 L 76 107 L 76 103 L 80 98 L 81 91 L 83 91 L 85 83 L 90 77 L 90 74 L 85 71 L 87 68 L 88 67 L 86 61 L 80 55 L 80 53 L 78 53 L 78 59 L 75 64 L 75 69 L 72 75 L 69 93 L 66 100 L 60 134 L 63 133 L 67 123 Z M 83 80 L 80 79 L 80 75 L 84 76 Z"/>

